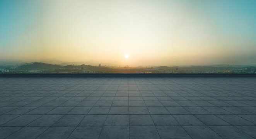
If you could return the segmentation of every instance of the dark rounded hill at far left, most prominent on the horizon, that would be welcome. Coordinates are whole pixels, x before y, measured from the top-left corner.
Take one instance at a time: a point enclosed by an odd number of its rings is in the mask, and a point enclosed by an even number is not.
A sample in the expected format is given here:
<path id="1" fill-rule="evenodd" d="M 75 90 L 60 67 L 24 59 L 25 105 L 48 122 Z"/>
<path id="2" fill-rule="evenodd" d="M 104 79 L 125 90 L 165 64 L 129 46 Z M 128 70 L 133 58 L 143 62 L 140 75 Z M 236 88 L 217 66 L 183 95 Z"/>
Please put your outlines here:
<path id="1" fill-rule="evenodd" d="M 17 69 L 58 69 L 62 68 L 60 65 L 56 64 L 46 64 L 46 63 L 39 63 L 39 62 L 34 62 L 32 64 L 26 64 L 17 67 Z"/>

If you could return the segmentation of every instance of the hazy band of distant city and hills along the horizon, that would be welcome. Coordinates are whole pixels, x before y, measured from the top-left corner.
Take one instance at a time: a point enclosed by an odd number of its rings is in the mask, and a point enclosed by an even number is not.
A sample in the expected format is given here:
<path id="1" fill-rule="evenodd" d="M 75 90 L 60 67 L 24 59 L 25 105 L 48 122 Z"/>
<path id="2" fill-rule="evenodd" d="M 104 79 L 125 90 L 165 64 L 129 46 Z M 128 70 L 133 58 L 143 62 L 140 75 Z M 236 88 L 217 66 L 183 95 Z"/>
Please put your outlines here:
<path id="1" fill-rule="evenodd" d="M 111 66 L 91 64 L 24 63 L 0 66 L 0 73 L 256 73 L 256 65 Z"/>

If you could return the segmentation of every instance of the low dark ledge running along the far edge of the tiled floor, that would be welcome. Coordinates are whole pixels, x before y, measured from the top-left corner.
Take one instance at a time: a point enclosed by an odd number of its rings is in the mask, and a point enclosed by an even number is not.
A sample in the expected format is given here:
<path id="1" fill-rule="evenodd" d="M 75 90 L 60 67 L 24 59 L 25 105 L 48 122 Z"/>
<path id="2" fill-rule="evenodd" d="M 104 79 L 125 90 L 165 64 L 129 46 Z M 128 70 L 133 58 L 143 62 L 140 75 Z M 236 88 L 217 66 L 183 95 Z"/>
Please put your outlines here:
<path id="1" fill-rule="evenodd" d="M 256 77 L 256 73 L 2 73 L 0 77 Z"/>

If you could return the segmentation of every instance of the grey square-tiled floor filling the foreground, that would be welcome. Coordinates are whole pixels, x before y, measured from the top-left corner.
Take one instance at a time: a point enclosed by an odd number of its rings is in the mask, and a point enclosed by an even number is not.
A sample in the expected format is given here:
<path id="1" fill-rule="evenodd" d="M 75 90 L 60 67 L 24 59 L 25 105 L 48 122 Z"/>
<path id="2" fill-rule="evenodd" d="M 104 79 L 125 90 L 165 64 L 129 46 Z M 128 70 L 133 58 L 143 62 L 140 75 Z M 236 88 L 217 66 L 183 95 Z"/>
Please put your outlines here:
<path id="1" fill-rule="evenodd" d="M 0 78 L 1 139 L 253 139 L 256 78 Z"/>

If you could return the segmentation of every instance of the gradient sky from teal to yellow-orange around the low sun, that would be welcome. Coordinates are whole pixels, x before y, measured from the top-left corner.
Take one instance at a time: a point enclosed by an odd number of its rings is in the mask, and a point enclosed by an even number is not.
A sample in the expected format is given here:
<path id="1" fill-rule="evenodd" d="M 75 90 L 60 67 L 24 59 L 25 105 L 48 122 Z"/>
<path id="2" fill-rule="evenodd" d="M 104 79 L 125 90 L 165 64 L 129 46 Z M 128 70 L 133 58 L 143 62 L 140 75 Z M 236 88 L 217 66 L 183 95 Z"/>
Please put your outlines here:
<path id="1" fill-rule="evenodd" d="M 0 61 L 256 64 L 255 15 L 256 0 L 0 0 Z"/>

